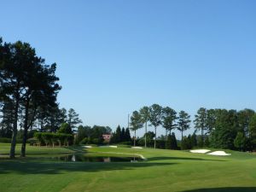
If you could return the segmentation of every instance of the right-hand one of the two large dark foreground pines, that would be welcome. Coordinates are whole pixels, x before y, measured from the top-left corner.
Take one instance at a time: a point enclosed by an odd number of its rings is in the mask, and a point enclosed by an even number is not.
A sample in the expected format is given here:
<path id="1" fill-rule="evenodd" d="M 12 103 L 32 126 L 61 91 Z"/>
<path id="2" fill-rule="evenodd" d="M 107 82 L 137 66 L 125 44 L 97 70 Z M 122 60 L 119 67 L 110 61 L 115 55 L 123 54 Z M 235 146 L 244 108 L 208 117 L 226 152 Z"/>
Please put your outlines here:
<path id="1" fill-rule="evenodd" d="M 44 66 L 44 60 L 38 57 L 34 59 L 34 65 L 29 69 L 26 77 L 26 92 L 21 100 L 24 108 L 24 134 L 20 156 L 26 155 L 27 131 L 32 127 L 36 119 L 39 106 L 55 106 L 56 96 L 61 87 L 56 84 L 59 79 L 55 77 L 56 64 Z"/>

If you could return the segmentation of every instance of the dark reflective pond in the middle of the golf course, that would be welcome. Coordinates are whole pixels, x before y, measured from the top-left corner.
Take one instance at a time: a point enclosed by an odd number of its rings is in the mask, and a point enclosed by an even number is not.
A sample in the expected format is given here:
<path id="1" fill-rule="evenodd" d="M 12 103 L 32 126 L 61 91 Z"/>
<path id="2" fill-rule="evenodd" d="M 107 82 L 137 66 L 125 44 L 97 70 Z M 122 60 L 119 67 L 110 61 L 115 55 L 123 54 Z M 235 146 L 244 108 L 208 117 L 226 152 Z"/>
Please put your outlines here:
<path id="1" fill-rule="evenodd" d="M 138 156 L 133 157 L 115 157 L 108 156 L 108 154 L 104 154 L 104 156 L 96 155 L 88 155 L 86 153 L 76 153 L 76 154 L 61 154 L 61 155 L 47 155 L 38 157 L 44 160 L 57 160 L 57 161 L 72 161 L 72 162 L 137 162 L 142 161 L 143 159 Z"/>

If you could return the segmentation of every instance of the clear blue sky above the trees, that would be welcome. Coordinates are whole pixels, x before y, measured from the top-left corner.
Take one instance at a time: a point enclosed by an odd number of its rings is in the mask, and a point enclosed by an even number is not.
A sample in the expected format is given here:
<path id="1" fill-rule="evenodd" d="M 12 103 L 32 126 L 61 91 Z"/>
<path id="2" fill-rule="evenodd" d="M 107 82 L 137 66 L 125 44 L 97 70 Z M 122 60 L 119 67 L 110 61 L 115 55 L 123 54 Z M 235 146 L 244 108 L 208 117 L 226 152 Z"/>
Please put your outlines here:
<path id="1" fill-rule="evenodd" d="M 255 9 L 253 0 L 10 0 L 0 36 L 57 63 L 61 107 L 115 129 L 153 103 L 191 116 L 256 109 Z"/>

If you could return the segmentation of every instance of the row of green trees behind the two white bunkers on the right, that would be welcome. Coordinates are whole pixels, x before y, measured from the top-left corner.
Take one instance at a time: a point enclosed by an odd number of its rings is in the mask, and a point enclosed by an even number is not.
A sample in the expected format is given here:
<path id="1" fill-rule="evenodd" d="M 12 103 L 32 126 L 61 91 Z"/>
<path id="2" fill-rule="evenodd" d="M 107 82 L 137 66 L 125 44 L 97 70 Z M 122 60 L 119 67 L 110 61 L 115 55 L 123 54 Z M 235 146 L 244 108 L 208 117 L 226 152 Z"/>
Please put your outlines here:
<path id="1" fill-rule="evenodd" d="M 130 129 L 134 131 L 134 145 L 136 144 L 136 132 L 144 127 L 144 146 L 147 147 L 148 124 L 154 127 L 154 148 L 157 143 L 157 128 L 166 130 L 165 140 L 172 137 L 172 131 L 181 132 L 182 148 L 195 146 L 191 143 L 199 143 L 200 147 L 229 148 L 241 151 L 254 150 L 256 148 L 256 113 L 252 109 L 241 111 L 227 109 L 200 108 L 193 121 L 195 133 L 200 136 L 183 137 L 183 132 L 191 128 L 189 113 L 176 112 L 169 107 L 161 107 L 153 104 L 134 111 L 131 115 Z M 189 147 L 188 147 L 189 146 Z"/>

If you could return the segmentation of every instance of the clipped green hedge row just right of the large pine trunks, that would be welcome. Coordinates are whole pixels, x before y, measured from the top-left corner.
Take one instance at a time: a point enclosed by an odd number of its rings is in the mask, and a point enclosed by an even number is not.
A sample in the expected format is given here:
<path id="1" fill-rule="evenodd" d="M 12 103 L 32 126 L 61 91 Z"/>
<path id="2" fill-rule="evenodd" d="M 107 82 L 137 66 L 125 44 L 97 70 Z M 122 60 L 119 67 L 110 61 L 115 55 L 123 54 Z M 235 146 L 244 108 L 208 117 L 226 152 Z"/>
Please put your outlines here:
<path id="1" fill-rule="evenodd" d="M 34 134 L 36 143 L 38 146 L 41 145 L 52 145 L 55 147 L 55 144 L 59 146 L 64 145 L 68 146 L 73 144 L 73 135 L 65 133 L 52 133 L 52 132 L 36 132 Z"/>

